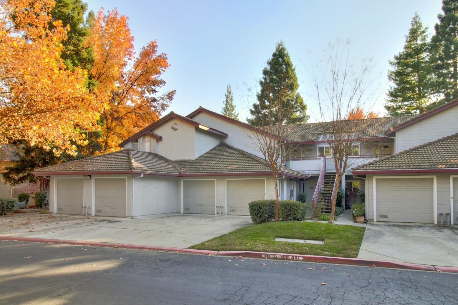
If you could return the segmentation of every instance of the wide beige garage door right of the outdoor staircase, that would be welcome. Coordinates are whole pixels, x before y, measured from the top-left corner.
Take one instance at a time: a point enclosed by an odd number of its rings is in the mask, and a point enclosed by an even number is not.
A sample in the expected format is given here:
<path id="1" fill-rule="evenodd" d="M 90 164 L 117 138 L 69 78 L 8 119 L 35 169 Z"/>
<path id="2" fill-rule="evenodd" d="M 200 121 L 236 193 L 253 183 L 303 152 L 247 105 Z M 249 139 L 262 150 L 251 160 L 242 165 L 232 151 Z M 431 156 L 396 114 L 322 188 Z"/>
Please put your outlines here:
<path id="1" fill-rule="evenodd" d="M 376 179 L 377 221 L 433 223 L 432 178 Z"/>

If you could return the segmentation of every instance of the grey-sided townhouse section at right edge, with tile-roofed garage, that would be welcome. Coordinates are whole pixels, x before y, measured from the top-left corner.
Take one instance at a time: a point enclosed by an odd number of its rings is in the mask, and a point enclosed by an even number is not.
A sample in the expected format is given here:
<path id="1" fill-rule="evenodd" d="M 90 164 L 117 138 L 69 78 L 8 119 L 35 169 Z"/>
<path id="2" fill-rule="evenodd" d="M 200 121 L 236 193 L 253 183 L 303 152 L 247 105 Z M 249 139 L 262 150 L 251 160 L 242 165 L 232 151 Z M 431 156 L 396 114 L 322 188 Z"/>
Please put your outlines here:
<path id="1" fill-rule="evenodd" d="M 385 131 L 395 154 L 356 166 L 372 221 L 458 221 L 458 100 Z"/>

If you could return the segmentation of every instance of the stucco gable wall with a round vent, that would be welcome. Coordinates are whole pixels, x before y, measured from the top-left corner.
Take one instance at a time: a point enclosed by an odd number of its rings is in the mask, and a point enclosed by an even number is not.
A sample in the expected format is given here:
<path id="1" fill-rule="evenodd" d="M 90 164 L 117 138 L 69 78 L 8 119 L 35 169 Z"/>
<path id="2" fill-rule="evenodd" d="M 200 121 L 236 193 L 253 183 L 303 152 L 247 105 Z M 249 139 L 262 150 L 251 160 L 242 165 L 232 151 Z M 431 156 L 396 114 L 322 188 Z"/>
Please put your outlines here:
<path id="1" fill-rule="evenodd" d="M 172 124 L 178 125 L 176 132 L 172 131 Z M 196 128 L 176 118 L 170 118 L 152 130 L 162 136 L 158 141 L 158 154 L 171 160 L 195 158 Z"/>

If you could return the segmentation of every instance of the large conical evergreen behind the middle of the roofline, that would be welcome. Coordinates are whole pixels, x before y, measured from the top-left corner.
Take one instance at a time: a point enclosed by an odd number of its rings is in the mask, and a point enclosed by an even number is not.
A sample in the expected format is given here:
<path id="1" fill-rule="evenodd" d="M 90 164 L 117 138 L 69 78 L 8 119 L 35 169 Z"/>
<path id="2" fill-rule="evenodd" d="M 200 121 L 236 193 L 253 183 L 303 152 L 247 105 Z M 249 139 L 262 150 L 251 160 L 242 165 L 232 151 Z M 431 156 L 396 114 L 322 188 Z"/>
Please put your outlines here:
<path id="1" fill-rule="evenodd" d="M 260 122 L 264 122 L 267 126 L 269 119 L 277 122 L 278 113 L 272 109 L 278 108 L 279 101 L 282 103 L 280 108 L 289 109 L 291 113 L 283 123 L 307 122 L 307 106 L 297 92 L 299 84 L 296 70 L 283 41 L 277 43 L 272 58 L 267 60 L 267 67 L 262 70 L 259 85 L 261 90 L 256 95 L 257 102 L 253 103 L 250 109 L 251 118 L 247 118 L 248 123 L 259 125 Z M 255 123 L 256 121 L 258 123 Z"/>

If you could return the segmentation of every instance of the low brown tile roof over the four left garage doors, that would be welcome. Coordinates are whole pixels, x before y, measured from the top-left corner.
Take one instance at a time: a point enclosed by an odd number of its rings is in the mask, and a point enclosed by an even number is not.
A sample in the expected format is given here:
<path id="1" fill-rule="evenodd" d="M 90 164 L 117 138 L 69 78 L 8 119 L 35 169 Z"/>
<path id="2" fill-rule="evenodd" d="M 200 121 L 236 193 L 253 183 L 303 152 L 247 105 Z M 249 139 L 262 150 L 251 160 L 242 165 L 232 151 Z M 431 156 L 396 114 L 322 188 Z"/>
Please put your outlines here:
<path id="1" fill-rule="evenodd" d="M 196 159 L 169 160 L 155 153 L 125 149 L 36 170 L 37 173 L 58 171 L 153 171 L 171 174 L 271 172 L 262 158 L 224 142 Z M 306 177 L 284 166 L 280 171 Z"/>

